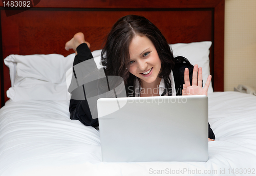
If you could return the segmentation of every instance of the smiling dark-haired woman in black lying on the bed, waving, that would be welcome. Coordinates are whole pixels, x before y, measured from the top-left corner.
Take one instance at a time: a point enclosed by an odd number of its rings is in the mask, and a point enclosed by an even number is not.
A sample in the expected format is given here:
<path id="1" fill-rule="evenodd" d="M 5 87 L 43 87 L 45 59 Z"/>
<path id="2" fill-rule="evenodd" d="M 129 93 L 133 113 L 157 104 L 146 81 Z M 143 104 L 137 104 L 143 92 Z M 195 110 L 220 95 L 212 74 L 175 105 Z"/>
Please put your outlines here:
<path id="1" fill-rule="evenodd" d="M 65 47 L 77 54 L 74 65 L 92 58 L 89 48 L 82 33 L 74 35 Z M 202 68 L 193 67 L 184 57 L 174 58 L 159 29 L 142 16 L 120 18 L 108 35 L 101 57 L 105 75 L 123 78 L 127 97 L 207 95 L 211 76 L 202 88 Z M 71 119 L 98 126 L 87 100 L 71 99 L 70 113 Z M 215 139 L 208 126 L 209 138 Z"/>

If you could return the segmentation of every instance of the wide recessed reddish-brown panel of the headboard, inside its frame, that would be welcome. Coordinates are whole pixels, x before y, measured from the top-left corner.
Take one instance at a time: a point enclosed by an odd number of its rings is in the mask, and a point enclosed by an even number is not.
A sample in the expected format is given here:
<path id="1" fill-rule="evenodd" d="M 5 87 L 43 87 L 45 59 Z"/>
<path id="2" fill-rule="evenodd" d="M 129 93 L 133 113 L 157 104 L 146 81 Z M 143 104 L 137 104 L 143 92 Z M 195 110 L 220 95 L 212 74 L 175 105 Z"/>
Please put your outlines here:
<path id="1" fill-rule="evenodd" d="M 63 49 L 75 33 L 83 32 L 91 50 L 102 48 L 116 20 L 127 14 L 143 15 L 169 43 L 211 40 L 211 11 L 26 11 L 2 18 L 3 56 L 10 54 L 68 55 Z"/>

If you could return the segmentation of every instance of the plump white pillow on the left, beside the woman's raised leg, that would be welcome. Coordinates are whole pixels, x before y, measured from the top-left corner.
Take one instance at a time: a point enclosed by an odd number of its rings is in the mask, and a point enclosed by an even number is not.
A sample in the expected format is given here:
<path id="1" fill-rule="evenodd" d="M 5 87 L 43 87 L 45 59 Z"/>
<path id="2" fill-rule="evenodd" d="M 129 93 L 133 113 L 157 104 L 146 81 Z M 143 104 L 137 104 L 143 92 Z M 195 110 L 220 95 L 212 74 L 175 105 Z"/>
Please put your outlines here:
<path id="1" fill-rule="evenodd" d="M 10 69 L 12 87 L 7 91 L 7 97 L 12 101 L 68 100 L 65 73 L 72 67 L 74 56 L 8 56 L 4 62 Z"/>

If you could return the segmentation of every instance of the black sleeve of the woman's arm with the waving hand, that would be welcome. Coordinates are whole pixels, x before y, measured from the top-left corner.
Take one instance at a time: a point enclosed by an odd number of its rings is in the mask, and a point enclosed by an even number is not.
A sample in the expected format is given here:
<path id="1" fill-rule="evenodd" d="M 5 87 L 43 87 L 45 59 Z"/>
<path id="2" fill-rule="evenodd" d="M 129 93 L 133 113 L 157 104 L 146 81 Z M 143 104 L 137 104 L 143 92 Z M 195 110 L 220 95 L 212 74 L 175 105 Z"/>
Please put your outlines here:
<path id="1" fill-rule="evenodd" d="M 189 70 L 190 85 L 192 83 L 194 67 L 188 63 L 176 63 L 175 67 L 173 69 L 176 95 L 182 95 L 183 84 L 185 83 L 185 81 L 184 81 L 185 68 L 188 68 L 188 70 Z M 208 123 L 208 138 L 215 139 L 214 131 L 212 131 L 209 123 Z"/>

